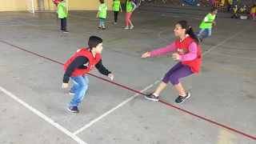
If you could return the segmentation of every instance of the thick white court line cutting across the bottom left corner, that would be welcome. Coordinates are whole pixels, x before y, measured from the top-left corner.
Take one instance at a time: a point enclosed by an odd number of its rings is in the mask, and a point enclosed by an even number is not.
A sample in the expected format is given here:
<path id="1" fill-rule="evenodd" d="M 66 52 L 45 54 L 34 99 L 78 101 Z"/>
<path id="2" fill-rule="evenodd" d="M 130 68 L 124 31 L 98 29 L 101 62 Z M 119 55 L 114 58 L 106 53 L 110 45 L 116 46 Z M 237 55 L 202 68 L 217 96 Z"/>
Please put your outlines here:
<path id="1" fill-rule="evenodd" d="M 15 101 L 19 102 L 20 104 L 22 104 L 23 106 L 25 106 L 27 109 L 31 110 L 32 112 L 34 112 L 34 114 L 37 114 L 39 117 L 41 117 L 42 119 L 46 120 L 46 122 L 49 122 L 51 125 L 55 126 L 56 128 L 58 128 L 58 130 L 61 130 L 63 133 L 65 133 L 66 135 L 70 136 L 70 138 L 73 138 L 76 142 L 78 142 L 79 144 L 87 144 L 86 142 L 83 142 L 82 139 L 78 138 L 76 135 L 72 134 L 69 130 L 66 130 L 64 127 L 60 126 L 57 122 L 54 122 L 54 120 L 48 118 L 46 115 L 42 114 L 40 111 L 34 109 L 34 107 L 30 106 L 29 104 L 27 104 L 26 102 L 22 101 L 21 99 L 19 99 L 18 97 L 16 97 L 14 94 L 11 94 L 9 91 L 5 90 L 4 88 L 2 88 L 2 86 L 0 86 L 0 90 L 2 92 L 4 92 L 5 94 L 9 95 L 10 98 L 13 98 Z"/>

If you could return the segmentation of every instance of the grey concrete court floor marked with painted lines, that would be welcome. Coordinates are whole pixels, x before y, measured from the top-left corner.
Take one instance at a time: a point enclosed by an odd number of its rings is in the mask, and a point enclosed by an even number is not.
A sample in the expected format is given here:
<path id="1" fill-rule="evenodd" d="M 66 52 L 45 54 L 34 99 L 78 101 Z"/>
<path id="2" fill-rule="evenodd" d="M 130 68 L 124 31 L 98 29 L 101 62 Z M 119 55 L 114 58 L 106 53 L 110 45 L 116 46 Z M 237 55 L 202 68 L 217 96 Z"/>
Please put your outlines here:
<path id="1" fill-rule="evenodd" d="M 171 85 L 159 102 L 142 96 L 174 66 L 171 54 L 141 55 L 174 42 L 174 25 L 182 18 L 136 12 L 134 29 L 124 30 L 125 13 L 118 25 L 109 13 L 102 31 L 97 12 L 69 14 L 70 33 L 62 34 L 54 13 L 1 13 L 0 143 L 256 143 L 255 22 L 218 22 L 201 44 L 202 73 L 181 80 L 191 97 L 177 105 Z M 198 31 L 200 20 L 184 19 Z M 61 88 L 62 63 L 91 35 L 103 38 L 102 62 L 114 81 L 93 70 L 80 113 L 73 114 L 67 110 L 73 82 Z"/>

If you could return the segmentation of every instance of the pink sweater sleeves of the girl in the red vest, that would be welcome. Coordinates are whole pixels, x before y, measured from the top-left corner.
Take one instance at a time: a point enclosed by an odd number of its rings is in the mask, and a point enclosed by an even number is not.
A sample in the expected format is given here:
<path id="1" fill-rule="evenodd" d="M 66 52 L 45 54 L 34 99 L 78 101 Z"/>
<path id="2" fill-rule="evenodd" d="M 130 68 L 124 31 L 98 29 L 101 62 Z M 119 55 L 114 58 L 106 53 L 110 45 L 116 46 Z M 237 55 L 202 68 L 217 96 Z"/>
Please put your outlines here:
<path id="1" fill-rule="evenodd" d="M 150 52 L 150 56 L 156 56 L 156 55 L 161 55 L 161 54 L 166 54 L 166 53 L 170 53 L 171 51 L 175 51 L 178 50 L 175 42 L 166 46 L 166 47 L 162 47 L 158 50 L 153 50 Z M 191 61 L 194 58 L 197 58 L 197 44 L 195 42 L 192 42 L 189 46 L 189 50 L 190 53 L 188 54 L 183 54 L 180 55 L 179 60 L 180 61 Z"/>

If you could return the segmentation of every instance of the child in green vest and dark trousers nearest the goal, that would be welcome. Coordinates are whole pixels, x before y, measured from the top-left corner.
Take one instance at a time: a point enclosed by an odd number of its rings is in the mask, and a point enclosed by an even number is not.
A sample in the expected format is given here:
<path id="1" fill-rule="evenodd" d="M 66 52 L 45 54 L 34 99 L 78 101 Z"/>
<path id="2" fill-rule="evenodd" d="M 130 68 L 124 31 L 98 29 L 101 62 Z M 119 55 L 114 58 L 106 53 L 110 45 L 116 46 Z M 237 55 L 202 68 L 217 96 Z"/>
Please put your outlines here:
<path id="1" fill-rule="evenodd" d="M 68 31 L 66 30 L 67 11 L 65 0 L 62 0 L 58 3 L 58 18 L 61 18 L 61 31 L 63 33 L 68 33 Z"/>

